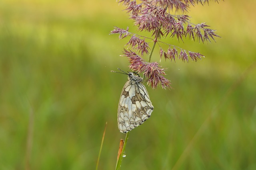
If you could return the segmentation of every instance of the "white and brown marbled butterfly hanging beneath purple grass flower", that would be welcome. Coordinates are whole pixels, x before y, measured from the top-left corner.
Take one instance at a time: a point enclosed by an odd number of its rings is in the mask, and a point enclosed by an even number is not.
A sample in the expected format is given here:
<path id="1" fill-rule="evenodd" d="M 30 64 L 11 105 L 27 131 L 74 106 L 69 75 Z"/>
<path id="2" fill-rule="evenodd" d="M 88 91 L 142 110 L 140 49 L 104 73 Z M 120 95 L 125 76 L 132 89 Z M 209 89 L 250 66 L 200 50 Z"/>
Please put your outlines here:
<path id="1" fill-rule="evenodd" d="M 118 73 L 128 75 L 128 81 L 124 84 L 118 103 L 117 123 L 120 132 L 126 133 L 144 123 L 151 116 L 154 107 L 142 84 L 143 78 L 136 72 L 121 71 L 123 73 Z"/>

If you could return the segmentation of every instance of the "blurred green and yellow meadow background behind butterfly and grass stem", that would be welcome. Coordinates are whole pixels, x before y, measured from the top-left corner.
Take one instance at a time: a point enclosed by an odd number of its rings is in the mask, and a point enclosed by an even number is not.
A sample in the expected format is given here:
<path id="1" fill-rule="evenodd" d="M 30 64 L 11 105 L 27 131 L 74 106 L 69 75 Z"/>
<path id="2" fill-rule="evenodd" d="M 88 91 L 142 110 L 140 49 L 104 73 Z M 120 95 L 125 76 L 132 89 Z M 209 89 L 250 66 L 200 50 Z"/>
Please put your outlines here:
<path id="1" fill-rule="evenodd" d="M 256 1 L 191 8 L 217 43 L 176 38 L 202 61 L 164 62 L 173 89 L 147 87 L 152 117 L 132 130 L 122 170 L 256 169 Z M 115 0 L 0 1 L 0 169 L 114 169 L 117 106 L 128 70 L 119 57 L 136 31 Z M 145 34 L 145 33 L 142 33 Z M 151 44 L 152 46 L 152 44 Z M 158 52 L 152 61 L 159 62 Z"/>

